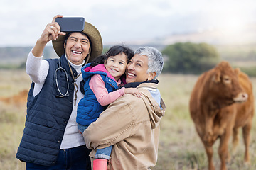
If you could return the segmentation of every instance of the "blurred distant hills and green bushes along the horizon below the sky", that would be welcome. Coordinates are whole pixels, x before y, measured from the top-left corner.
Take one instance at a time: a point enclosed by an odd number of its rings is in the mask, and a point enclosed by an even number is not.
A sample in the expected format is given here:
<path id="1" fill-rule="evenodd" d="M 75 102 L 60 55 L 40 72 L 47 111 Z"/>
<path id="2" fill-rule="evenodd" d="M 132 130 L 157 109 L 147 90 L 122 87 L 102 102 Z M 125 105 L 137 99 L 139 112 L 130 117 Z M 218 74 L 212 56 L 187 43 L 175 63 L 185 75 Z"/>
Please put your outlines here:
<path id="1" fill-rule="evenodd" d="M 153 46 L 154 45 L 149 45 Z M 136 50 L 140 46 L 131 46 Z M 105 53 L 110 46 L 105 46 Z M 164 56 L 165 73 L 201 74 L 215 67 L 220 60 L 226 60 L 235 68 L 239 67 L 250 77 L 256 77 L 256 47 L 245 46 L 213 46 L 207 43 L 177 42 L 172 45 L 159 46 Z M 24 69 L 26 57 L 31 47 L 0 48 L 0 69 Z M 53 47 L 46 47 L 44 58 L 56 57 Z M 243 63 L 244 62 L 244 63 Z"/>

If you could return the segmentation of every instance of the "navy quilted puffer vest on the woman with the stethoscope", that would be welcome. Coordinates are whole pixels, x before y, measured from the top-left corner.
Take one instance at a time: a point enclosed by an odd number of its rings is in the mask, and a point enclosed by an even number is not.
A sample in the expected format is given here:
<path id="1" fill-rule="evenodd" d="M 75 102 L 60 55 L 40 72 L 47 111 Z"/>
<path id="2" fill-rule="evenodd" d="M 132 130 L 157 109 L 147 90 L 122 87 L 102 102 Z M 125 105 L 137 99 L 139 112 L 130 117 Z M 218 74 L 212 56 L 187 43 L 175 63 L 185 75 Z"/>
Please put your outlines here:
<path id="1" fill-rule="evenodd" d="M 33 97 L 34 83 L 28 93 L 26 123 L 23 137 L 18 147 L 16 158 L 23 162 L 32 162 L 45 166 L 55 164 L 65 127 L 73 109 L 73 79 L 68 62 L 63 55 L 60 65 L 68 73 L 68 96 L 60 95 L 55 81 L 55 70 L 59 67 L 58 59 L 50 59 L 49 71 L 40 93 Z M 72 68 L 73 69 L 73 68 Z M 77 72 L 73 69 L 76 77 Z M 67 80 L 63 71 L 58 71 L 58 86 L 65 94 Z"/>

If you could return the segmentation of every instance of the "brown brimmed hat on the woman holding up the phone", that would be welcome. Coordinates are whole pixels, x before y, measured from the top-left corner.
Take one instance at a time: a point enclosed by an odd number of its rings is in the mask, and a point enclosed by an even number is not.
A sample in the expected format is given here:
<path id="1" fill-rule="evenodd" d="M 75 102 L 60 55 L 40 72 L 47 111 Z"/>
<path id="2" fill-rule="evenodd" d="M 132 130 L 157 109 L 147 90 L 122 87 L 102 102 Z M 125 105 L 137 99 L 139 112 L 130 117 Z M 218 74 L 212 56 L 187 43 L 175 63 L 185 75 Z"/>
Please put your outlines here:
<path id="1" fill-rule="evenodd" d="M 92 24 L 85 22 L 85 28 L 82 31 L 85 33 L 89 39 L 90 39 L 90 45 L 91 45 L 91 50 L 90 50 L 90 58 L 88 62 L 91 62 L 94 60 L 96 57 L 102 54 L 102 38 L 100 35 L 99 30 L 95 28 L 95 26 L 92 26 Z M 64 50 L 64 43 L 65 43 L 65 35 L 59 35 L 59 38 L 57 40 L 53 40 L 53 48 L 57 55 L 61 57 L 65 50 Z"/>

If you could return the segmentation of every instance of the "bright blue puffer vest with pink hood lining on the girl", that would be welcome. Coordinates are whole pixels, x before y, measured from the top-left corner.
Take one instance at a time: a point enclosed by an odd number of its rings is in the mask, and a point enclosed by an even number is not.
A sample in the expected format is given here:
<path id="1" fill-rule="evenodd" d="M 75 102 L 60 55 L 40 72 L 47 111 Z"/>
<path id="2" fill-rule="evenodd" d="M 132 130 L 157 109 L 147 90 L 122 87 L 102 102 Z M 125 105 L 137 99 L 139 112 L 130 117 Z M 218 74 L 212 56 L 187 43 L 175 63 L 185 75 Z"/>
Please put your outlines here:
<path id="1" fill-rule="evenodd" d="M 100 105 L 89 86 L 90 79 L 94 74 L 100 74 L 109 93 L 118 88 L 114 77 L 107 72 L 103 64 L 91 68 L 90 63 L 88 63 L 82 67 L 82 78 L 85 81 L 85 97 L 78 103 L 76 119 L 77 123 L 80 125 L 90 125 L 92 122 L 95 122 L 95 120 L 99 118 L 100 113 L 105 110 L 105 107 Z"/>

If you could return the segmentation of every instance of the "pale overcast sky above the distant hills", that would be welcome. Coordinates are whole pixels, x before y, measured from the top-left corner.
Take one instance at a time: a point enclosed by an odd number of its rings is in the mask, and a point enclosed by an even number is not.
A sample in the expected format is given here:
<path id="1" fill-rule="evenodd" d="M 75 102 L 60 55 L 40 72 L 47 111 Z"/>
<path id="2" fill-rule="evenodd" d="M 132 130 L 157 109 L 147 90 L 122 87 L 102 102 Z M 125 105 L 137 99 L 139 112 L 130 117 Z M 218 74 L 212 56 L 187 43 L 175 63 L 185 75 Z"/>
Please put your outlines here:
<path id="1" fill-rule="evenodd" d="M 256 23 L 256 1 L 1 0 L 0 47 L 33 46 L 57 14 L 84 17 L 106 44 L 216 28 L 242 30 Z"/>

